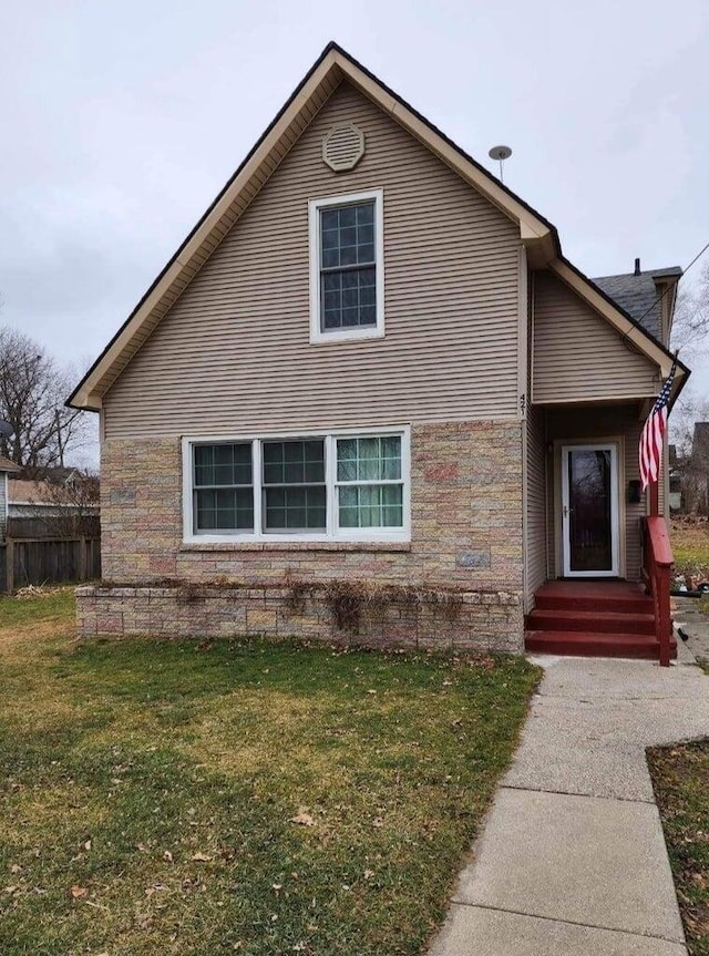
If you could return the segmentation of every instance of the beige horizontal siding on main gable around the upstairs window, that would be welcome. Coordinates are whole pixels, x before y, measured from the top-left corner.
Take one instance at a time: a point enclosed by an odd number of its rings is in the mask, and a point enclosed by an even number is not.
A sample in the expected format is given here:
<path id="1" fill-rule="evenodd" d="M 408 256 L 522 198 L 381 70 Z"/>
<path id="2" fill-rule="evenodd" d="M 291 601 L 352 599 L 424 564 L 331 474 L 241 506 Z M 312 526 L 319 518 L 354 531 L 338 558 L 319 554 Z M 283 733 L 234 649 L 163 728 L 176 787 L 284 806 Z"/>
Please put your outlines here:
<path id="1" fill-rule="evenodd" d="M 366 154 L 336 174 L 325 133 Z M 309 343 L 308 201 L 382 188 L 386 337 Z M 343 84 L 104 398 L 105 435 L 514 418 L 515 225 Z"/>

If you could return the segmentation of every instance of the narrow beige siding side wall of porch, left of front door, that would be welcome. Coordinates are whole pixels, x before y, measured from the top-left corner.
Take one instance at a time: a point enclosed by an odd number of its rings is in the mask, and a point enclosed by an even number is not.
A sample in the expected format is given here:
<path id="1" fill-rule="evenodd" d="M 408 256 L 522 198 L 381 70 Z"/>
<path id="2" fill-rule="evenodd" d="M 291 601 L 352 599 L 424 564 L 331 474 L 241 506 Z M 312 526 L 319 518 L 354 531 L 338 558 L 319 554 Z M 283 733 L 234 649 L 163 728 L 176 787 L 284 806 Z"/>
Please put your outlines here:
<path id="1" fill-rule="evenodd" d="M 546 442 L 544 410 L 532 405 L 527 414 L 526 604 L 546 580 Z"/>

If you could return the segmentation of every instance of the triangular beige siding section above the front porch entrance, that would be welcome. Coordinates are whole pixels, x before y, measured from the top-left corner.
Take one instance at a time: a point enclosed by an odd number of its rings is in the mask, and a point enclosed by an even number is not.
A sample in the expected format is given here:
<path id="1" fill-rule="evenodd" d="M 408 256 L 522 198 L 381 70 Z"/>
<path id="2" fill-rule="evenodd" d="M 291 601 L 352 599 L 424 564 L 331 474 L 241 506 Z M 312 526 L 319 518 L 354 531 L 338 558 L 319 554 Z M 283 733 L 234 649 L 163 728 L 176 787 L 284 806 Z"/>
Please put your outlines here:
<path id="1" fill-rule="evenodd" d="M 535 276 L 532 401 L 654 395 L 658 369 L 561 279 Z"/>

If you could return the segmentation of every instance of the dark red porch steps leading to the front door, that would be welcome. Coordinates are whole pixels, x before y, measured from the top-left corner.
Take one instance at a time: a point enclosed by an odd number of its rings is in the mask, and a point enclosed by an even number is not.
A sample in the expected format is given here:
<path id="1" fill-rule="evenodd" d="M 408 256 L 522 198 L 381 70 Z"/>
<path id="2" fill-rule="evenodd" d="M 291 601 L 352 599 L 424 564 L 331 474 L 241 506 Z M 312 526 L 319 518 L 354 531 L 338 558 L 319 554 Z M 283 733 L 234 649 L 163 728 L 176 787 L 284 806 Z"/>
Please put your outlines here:
<path id="1" fill-rule="evenodd" d="M 653 598 L 623 580 L 551 580 L 525 619 L 525 648 L 536 654 L 658 660 Z M 677 643 L 670 644 L 677 657 Z"/>

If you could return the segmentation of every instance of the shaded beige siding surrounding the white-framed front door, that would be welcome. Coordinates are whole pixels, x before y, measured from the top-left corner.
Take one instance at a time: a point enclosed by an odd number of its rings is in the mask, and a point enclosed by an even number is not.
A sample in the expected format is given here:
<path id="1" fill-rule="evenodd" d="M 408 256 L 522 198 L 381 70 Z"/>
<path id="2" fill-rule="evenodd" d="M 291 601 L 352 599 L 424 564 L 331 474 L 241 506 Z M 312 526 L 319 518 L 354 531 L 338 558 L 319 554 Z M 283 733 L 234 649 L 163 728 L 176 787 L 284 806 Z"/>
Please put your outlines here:
<path id="1" fill-rule="evenodd" d="M 593 413 L 585 409 L 548 409 L 546 411 L 547 440 L 563 440 L 567 444 L 597 438 L 605 440 L 620 436 L 624 440 L 624 459 L 619 462 L 621 486 L 618 493 L 620 508 L 625 508 L 625 564 L 628 580 L 638 580 L 640 576 L 640 516 L 645 514 L 645 505 L 630 504 L 628 502 L 628 482 L 640 477 L 638 463 L 638 445 L 643 422 L 639 419 L 637 405 L 608 405 L 595 408 Z M 561 530 L 556 526 L 555 507 L 561 501 L 558 476 L 561 467 L 561 450 L 557 448 L 556 479 L 549 476 L 547 482 L 548 492 L 548 528 L 549 528 L 549 555 L 555 561 L 561 548 Z M 621 512 L 623 513 L 623 512 Z M 621 534 L 624 527 L 621 526 Z M 561 566 L 556 566 L 556 576 L 563 574 Z"/>

